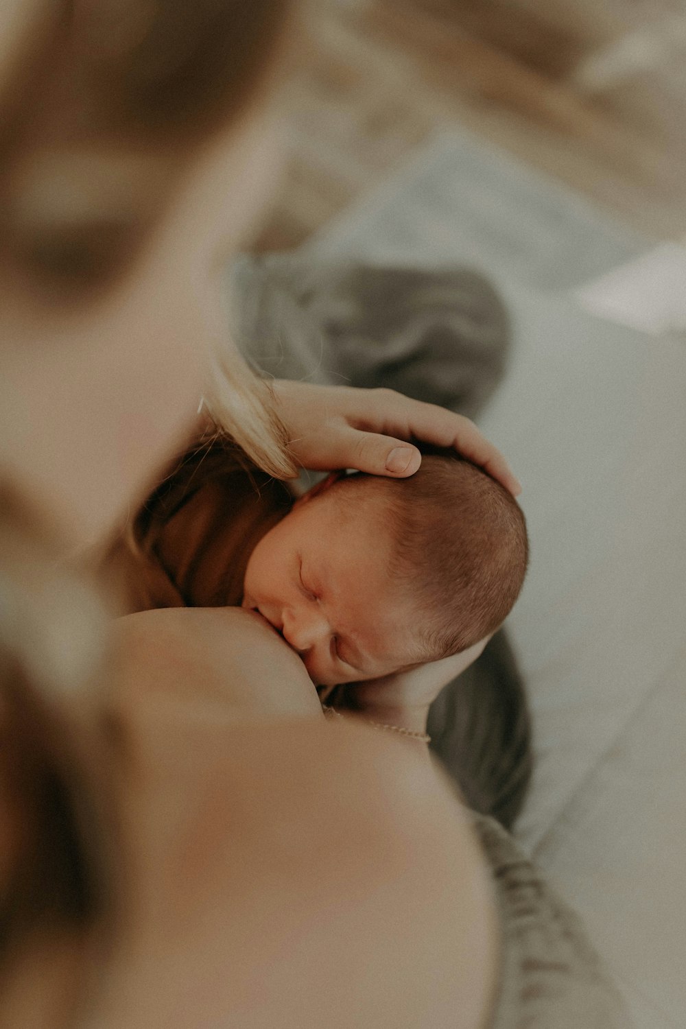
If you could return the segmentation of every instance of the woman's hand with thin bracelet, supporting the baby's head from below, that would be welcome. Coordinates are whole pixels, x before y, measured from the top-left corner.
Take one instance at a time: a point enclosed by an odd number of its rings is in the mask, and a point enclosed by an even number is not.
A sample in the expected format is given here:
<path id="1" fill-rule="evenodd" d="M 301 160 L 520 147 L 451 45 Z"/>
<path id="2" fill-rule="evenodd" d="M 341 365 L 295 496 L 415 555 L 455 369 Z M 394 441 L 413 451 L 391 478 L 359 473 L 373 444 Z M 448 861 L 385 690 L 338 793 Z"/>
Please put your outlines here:
<path id="1" fill-rule="evenodd" d="M 370 721 L 425 733 L 431 704 L 443 686 L 476 661 L 490 639 L 488 636 L 461 653 L 420 665 L 407 672 L 337 686 L 327 703 L 359 711 Z"/>

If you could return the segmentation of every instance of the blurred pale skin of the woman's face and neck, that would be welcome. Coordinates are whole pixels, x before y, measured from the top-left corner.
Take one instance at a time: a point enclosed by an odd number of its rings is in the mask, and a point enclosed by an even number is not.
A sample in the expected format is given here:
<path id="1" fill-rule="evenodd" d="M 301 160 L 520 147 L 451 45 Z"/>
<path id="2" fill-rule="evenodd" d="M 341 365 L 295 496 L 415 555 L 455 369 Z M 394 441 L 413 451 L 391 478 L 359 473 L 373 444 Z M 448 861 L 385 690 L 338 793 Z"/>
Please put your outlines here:
<path id="1" fill-rule="evenodd" d="M 208 145 L 136 278 L 96 310 L 41 310 L 0 277 L 3 463 L 71 546 L 102 539 L 193 431 L 226 334 L 219 258 L 268 196 L 273 129 L 260 108 Z"/>

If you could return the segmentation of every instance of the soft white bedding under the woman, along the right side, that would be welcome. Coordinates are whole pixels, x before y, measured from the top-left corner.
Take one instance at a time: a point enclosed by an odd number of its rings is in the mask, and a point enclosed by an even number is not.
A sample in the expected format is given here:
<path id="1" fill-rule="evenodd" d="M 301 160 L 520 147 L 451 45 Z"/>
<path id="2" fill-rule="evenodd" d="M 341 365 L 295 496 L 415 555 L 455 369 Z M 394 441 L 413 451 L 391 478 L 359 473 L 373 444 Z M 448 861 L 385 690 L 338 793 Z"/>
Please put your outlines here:
<path id="1" fill-rule="evenodd" d="M 648 249 L 462 134 L 311 249 L 469 264 L 512 313 L 481 425 L 525 486 L 510 618 L 537 768 L 518 827 L 583 916 L 639 1029 L 686 1023 L 686 341 L 584 313 L 574 288 Z"/>

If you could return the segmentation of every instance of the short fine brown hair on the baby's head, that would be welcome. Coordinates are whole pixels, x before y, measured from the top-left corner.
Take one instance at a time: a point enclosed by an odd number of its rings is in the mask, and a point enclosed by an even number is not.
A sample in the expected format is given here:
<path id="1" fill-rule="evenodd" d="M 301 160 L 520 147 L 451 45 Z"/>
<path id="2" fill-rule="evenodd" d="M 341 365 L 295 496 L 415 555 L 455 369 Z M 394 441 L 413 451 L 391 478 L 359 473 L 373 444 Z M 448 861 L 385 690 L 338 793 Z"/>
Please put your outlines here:
<path id="1" fill-rule="evenodd" d="M 376 517 L 393 533 L 391 572 L 426 612 L 418 663 L 466 650 L 504 622 L 523 584 L 529 540 L 523 512 L 500 483 L 435 453 L 409 478 L 351 475 L 336 487 L 384 501 Z"/>

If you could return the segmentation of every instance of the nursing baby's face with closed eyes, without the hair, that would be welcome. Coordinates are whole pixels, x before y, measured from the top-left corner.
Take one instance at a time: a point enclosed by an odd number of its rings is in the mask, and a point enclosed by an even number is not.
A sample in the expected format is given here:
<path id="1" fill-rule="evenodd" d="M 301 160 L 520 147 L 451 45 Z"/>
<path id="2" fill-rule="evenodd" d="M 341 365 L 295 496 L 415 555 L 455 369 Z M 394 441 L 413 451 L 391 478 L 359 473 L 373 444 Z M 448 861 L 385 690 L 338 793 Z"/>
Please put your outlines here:
<path id="1" fill-rule="evenodd" d="M 301 501 L 251 554 L 243 606 L 283 634 L 316 685 L 378 678 L 417 650 L 417 612 L 390 558 L 390 533 L 366 503 Z"/>

